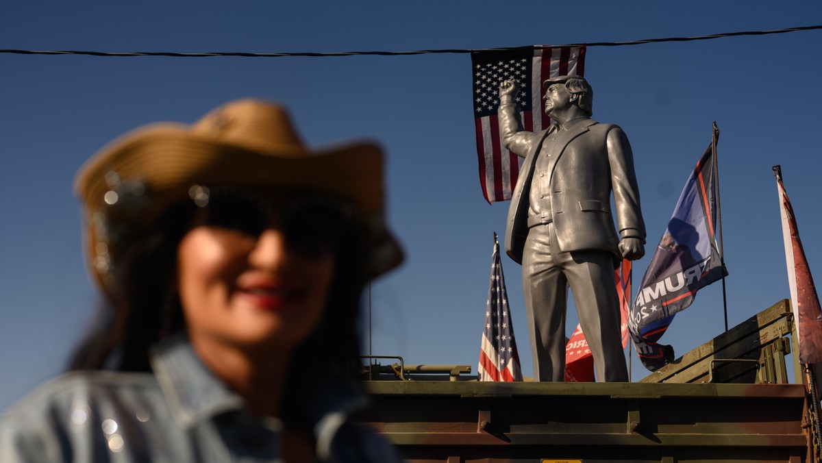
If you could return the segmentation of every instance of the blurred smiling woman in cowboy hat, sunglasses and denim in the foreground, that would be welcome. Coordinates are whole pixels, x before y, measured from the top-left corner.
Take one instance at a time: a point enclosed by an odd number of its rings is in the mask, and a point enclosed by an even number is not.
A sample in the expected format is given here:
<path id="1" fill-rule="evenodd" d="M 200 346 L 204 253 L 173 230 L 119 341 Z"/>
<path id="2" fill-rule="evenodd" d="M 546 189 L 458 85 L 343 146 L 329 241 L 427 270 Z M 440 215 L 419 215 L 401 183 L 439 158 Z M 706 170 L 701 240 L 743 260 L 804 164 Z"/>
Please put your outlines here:
<path id="1" fill-rule="evenodd" d="M 396 461 L 349 421 L 360 295 L 402 260 L 381 163 L 261 100 L 106 146 L 76 178 L 104 311 L 3 415 L 0 461 Z"/>

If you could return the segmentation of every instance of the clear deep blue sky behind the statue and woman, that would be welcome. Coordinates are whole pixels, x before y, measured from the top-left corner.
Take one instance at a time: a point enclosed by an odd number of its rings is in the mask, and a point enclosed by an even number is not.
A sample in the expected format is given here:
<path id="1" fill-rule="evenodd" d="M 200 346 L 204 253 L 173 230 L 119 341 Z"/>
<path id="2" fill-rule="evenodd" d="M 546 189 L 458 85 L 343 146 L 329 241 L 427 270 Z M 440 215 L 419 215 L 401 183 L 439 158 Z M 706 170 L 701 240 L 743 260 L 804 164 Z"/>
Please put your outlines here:
<path id="1" fill-rule="evenodd" d="M 577 10 L 577 11 L 574 11 Z M 822 24 L 818 2 L 6 2 L 0 49 L 343 52 L 485 49 Z M 822 268 L 818 81 L 822 30 L 591 47 L 593 118 L 635 154 L 649 250 L 690 169 L 722 131 L 730 326 L 789 296 L 771 166 L 782 164 L 811 270 Z M 335 58 L 99 58 L 0 53 L 0 409 L 58 374 L 94 315 L 72 194 L 82 162 L 157 120 L 192 122 L 245 96 L 286 104 L 313 146 L 376 140 L 407 261 L 372 287 L 372 350 L 476 371 L 492 233 L 507 203 L 478 181 L 468 54 Z M 635 262 L 639 284 L 650 254 Z M 520 266 L 503 257 L 524 374 Z M 569 311 L 568 333 L 576 324 Z M 724 329 L 721 285 L 663 342 L 677 355 Z M 367 344 L 366 344 L 367 345 Z M 634 358 L 632 377 L 648 374 Z"/>

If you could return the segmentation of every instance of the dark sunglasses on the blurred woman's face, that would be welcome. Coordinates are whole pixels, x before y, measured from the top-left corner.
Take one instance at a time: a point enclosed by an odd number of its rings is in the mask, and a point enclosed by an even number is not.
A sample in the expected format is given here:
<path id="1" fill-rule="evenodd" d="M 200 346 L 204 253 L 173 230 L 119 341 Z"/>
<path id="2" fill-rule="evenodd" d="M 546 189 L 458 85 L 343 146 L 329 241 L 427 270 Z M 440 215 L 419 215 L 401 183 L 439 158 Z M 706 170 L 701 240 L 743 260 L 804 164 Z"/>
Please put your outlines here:
<path id="1" fill-rule="evenodd" d="M 285 246 L 303 257 L 324 257 L 338 247 L 353 225 L 353 207 L 316 194 L 257 194 L 242 188 L 194 185 L 188 191 L 197 206 L 196 224 L 259 238 L 278 229 Z"/>

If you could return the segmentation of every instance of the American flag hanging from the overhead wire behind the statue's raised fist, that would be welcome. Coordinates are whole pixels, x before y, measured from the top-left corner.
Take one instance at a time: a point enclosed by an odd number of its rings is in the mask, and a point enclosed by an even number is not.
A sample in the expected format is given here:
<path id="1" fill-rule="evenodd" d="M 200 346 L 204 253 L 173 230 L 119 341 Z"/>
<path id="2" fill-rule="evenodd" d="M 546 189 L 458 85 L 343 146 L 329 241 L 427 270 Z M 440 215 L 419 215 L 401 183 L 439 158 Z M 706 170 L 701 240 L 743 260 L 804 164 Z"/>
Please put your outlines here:
<path id="1" fill-rule="evenodd" d="M 520 94 L 516 102 L 520 104 L 524 129 L 539 132 L 551 125 L 551 119 L 543 113 L 543 81 L 556 76 L 582 76 L 584 58 L 585 47 L 527 47 L 471 53 L 479 181 L 489 204 L 510 200 L 520 174 L 520 157 L 506 150 L 500 141 L 496 117 L 500 82 L 517 81 Z"/>

